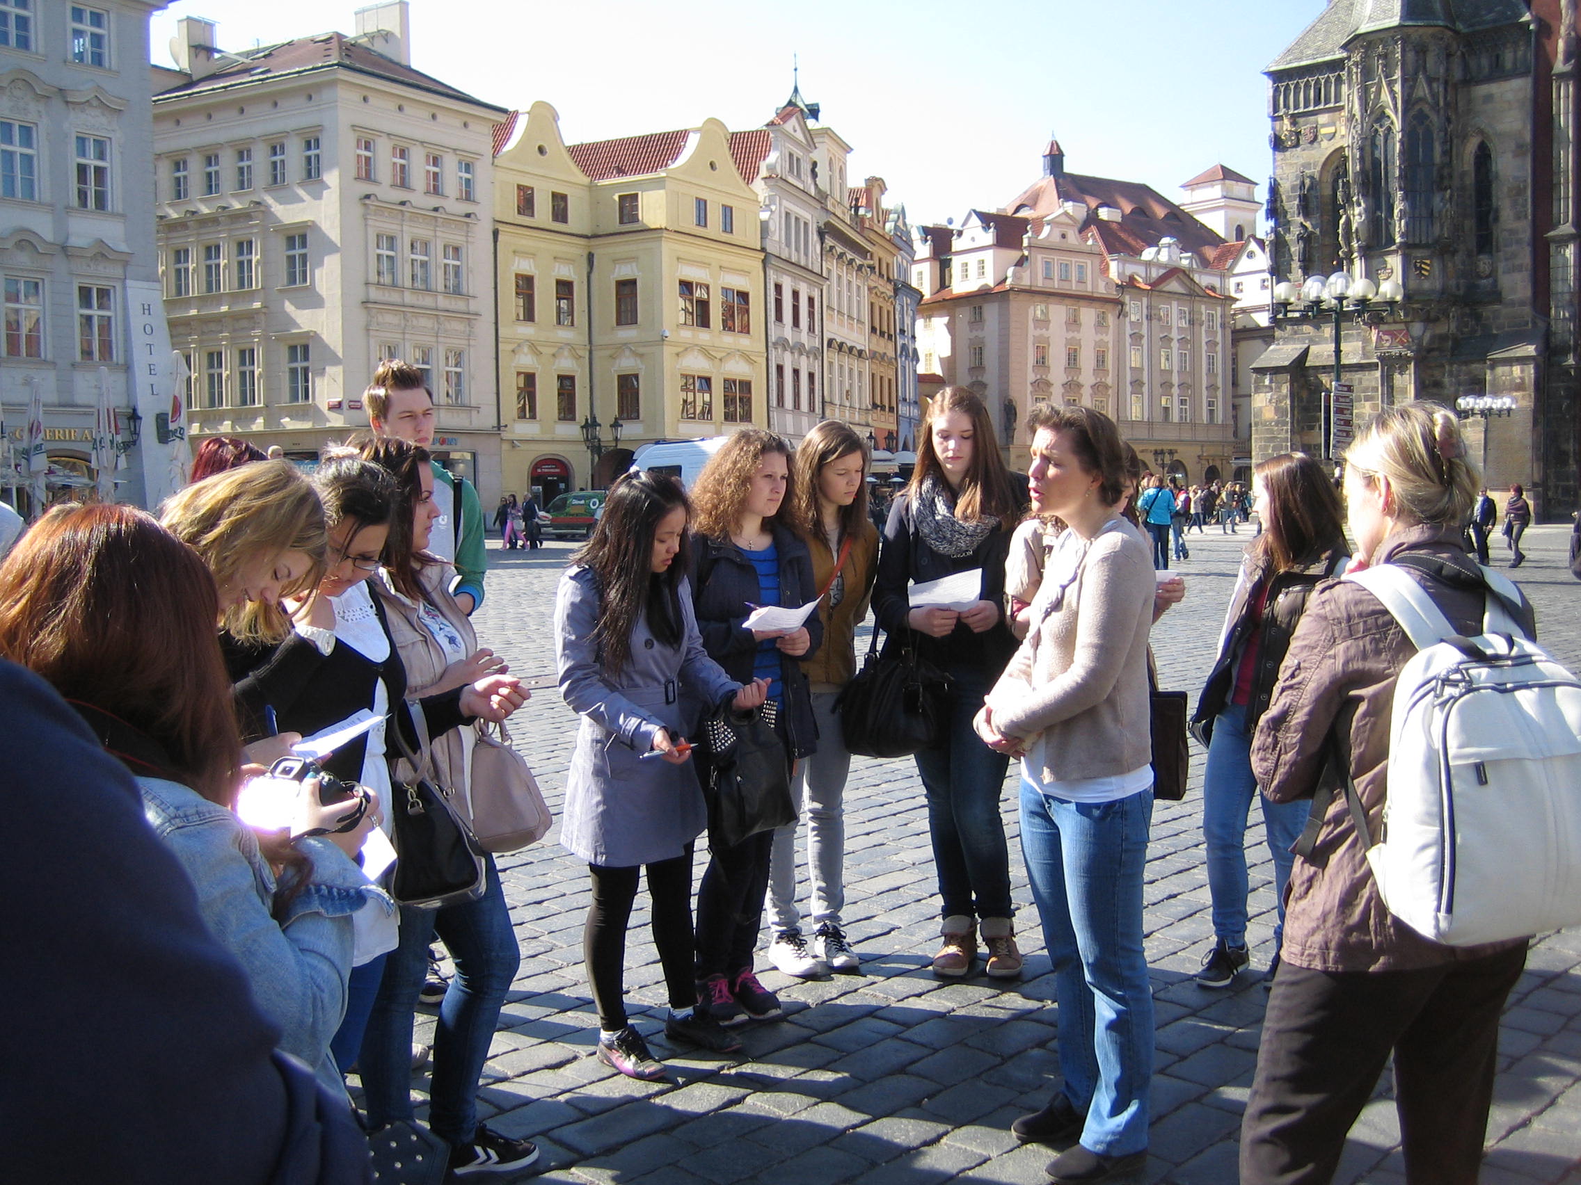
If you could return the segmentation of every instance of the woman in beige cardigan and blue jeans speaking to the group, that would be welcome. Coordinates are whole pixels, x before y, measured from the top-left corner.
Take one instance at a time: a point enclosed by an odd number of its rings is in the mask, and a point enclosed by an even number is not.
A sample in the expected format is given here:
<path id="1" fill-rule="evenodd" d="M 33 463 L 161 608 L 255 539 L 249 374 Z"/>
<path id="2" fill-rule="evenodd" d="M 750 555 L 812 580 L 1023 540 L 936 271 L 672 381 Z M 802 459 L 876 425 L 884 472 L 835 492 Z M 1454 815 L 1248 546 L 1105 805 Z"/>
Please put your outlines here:
<path id="1" fill-rule="evenodd" d="M 1094 1182 L 1146 1161 L 1153 989 L 1141 948 L 1141 869 L 1153 820 L 1148 630 L 1153 564 L 1121 517 L 1119 433 L 1091 408 L 1039 406 L 1032 504 L 1067 525 L 1029 630 L 988 694 L 977 733 L 1020 754 L 1021 855 L 1059 1003 L 1064 1085 L 1017 1138 L 1080 1136 L 1048 1166 Z"/>

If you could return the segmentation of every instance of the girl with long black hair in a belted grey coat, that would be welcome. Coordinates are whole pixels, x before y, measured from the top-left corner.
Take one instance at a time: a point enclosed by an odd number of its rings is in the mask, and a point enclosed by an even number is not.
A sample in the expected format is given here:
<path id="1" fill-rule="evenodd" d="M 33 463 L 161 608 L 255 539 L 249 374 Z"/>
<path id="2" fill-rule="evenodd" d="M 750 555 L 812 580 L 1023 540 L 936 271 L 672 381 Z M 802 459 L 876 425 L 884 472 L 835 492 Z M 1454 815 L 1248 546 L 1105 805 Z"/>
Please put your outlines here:
<path id="1" fill-rule="evenodd" d="M 708 811 L 685 732 L 700 711 L 756 708 L 767 684 L 743 687 L 702 648 L 683 575 L 688 518 L 674 479 L 621 477 L 555 599 L 560 690 L 582 714 L 561 844 L 588 861 L 593 877 L 582 946 L 599 1013 L 598 1057 L 640 1079 L 664 1076 L 628 1022 L 621 983 L 642 866 L 670 997 L 666 1035 L 716 1052 L 740 1049 L 692 1011 L 692 841 Z"/>

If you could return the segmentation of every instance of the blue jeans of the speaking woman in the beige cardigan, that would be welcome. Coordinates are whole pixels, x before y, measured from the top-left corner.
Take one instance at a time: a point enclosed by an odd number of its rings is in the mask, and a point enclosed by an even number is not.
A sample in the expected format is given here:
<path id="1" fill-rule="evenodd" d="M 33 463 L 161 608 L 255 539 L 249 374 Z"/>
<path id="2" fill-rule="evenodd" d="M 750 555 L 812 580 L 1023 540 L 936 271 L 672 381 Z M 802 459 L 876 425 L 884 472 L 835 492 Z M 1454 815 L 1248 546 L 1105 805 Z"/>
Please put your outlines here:
<path id="1" fill-rule="evenodd" d="M 1141 950 L 1141 869 L 1153 792 L 1067 803 L 1021 781 L 1021 855 L 1059 1005 L 1059 1071 L 1081 1146 L 1148 1147 L 1153 986 Z"/>

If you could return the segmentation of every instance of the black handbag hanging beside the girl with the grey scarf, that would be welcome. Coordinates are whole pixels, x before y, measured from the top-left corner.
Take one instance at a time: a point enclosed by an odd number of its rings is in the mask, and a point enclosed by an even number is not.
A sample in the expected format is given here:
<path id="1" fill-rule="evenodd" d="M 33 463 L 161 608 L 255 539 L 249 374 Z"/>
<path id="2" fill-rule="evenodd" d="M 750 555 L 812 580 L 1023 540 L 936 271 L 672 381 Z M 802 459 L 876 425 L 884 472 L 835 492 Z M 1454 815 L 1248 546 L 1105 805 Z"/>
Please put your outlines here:
<path id="1" fill-rule="evenodd" d="M 909 638 L 890 635 L 890 641 L 895 653 L 881 657 L 873 630 L 862 670 L 835 700 L 846 749 L 860 757 L 909 757 L 944 733 L 950 676 L 920 657 Z"/>

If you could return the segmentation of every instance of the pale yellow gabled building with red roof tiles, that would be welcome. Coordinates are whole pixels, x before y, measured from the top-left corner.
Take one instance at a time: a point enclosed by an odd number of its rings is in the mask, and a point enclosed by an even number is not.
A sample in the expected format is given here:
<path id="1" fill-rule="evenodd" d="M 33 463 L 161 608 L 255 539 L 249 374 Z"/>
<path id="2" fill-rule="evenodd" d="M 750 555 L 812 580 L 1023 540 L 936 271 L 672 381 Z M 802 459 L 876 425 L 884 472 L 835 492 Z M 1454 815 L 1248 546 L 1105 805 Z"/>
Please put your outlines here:
<path id="1" fill-rule="evenodd" d="M 650 441 L 767 427 L 759 201 L 726 126 L 568 145 L 534 103 L 501 142 L 501 488 L 545 506 Z"/>

